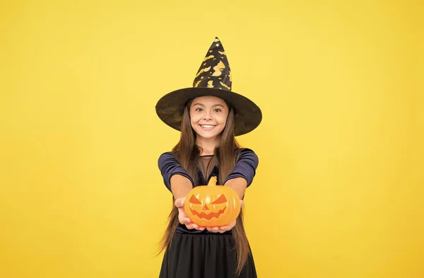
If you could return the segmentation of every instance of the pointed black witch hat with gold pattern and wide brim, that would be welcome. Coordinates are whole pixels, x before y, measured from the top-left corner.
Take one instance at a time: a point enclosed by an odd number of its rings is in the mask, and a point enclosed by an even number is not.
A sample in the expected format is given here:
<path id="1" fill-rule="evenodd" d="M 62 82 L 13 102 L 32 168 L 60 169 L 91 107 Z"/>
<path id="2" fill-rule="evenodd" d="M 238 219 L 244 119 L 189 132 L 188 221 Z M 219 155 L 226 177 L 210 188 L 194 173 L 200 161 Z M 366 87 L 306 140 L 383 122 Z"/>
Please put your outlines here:
<path id="1" fill-rule="evenodd" d="M 156 104 L 156 113 L 165 124 L 180 131 L 184 105 L 192 98 L 213 95 L 228 101 L 234 108 L 234 135 L 247 134 L 261 123 L 261 110 L 252 100 L 231 88 L 230 64 L 223 45 L 216 37 L 194 77 L 193 87 L 164 95 Z"/>

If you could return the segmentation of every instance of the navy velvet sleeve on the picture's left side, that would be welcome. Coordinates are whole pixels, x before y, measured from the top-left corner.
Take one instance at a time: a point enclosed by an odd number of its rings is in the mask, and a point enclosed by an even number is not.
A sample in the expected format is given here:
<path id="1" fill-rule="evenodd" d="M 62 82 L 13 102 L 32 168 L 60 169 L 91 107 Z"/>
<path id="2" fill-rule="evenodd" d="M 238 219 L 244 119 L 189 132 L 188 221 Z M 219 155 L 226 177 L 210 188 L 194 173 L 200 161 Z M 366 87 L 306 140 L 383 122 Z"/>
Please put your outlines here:
<path id="1" fill-rule="evenodd" d="M 158 166 L 163 177 L 163 183 L 165 183 L 168 190 L 171 191 L 172 175 L 182 175 L 188 178 L 193 184 L 192 178 L 190 178 L 187 171 L 178 163 L 177 159 L 175 159 L 171 152 L 166 152 L 159 156 Z"/>

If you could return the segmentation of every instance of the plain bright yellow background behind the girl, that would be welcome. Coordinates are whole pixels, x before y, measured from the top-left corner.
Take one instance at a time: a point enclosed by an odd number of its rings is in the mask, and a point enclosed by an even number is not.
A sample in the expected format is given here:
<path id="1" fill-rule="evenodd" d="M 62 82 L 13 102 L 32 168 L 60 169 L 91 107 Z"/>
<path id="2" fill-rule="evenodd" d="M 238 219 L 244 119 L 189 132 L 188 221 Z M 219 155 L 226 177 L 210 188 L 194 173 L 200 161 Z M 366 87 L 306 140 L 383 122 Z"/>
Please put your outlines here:
<path id="1" fill-rule="evenodd" d="M 13 3 L 13 4 L 12 4 Z M 423 3 L 421 1 L 421 3 Z M 263 110 L 259 277 L 424 277 L 420 1 L 3 1 L 0 277 L 158 277 L 155 103 L 213 38 Z"/>

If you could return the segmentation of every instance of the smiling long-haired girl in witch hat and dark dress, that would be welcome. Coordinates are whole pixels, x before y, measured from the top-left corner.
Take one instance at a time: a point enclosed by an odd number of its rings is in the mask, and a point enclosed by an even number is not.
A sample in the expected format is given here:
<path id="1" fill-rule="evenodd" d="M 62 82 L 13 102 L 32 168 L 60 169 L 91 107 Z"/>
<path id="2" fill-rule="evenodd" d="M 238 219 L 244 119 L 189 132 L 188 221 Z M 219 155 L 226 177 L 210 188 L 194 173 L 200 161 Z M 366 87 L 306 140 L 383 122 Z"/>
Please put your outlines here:
<path id="1" fill-rule="evenodd" d="M 156 105 L 160 119 L 181 132 L 178 144 L 158 161 L 175 204 L 160 244 L 160 251 L 165 250 L 160 278 L 257 277 L 242 210 L 232 223 L 207 228 L 192 223 L 184 212 L 187 193 L 212 176 L 240 199 L 252 184 L 257 155 L 240 148 L 235 136 L 255 129 L 261 110 L 231 86 L 228 59 L 216 38 L 193 87 L 168 93 Z"/>

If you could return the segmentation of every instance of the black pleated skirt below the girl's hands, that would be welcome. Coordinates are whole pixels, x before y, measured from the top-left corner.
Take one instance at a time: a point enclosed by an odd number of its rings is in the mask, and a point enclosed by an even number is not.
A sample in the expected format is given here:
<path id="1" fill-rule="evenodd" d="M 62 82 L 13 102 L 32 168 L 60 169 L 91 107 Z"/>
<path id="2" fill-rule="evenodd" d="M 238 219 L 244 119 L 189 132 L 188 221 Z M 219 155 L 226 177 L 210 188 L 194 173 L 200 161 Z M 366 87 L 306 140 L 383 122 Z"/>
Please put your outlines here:
<path id="1" fill-rule="evenodd" d="M 165 251 L 160 278 L 257 278 L 252 253 L 240 276 L 231 234 L 175 233 Z"/>

